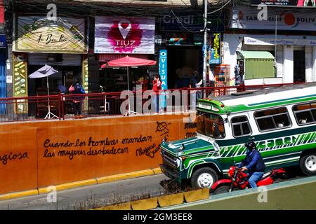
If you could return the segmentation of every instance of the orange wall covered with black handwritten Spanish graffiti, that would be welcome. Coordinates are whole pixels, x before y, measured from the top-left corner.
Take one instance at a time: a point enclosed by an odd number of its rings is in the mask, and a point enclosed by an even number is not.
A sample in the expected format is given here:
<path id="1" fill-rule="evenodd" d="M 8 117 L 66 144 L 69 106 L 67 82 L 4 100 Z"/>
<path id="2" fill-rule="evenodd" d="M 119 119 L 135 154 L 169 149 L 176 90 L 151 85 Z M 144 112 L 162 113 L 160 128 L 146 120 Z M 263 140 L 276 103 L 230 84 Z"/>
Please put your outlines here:
<path id="1" fill-rule="evenodd" d="M 0 194 L 157 168 L 162 139 L 183 139 L 190 127 L 183 115 L 0 125 Z"/>

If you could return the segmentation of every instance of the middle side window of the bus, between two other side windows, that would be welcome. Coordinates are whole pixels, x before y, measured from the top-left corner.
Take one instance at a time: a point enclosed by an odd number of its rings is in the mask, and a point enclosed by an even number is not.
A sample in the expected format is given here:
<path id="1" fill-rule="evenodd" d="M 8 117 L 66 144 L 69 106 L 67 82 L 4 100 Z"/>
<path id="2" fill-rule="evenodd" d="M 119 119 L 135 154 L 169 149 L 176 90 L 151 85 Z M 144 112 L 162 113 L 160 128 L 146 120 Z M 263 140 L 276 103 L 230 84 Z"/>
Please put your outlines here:
<path id="1" fill-rule="evenodd" d="M 257 111 L 254 113 L 254 118 L 261 132 L 291 126 L 289 113 L 285 107 L 266 111 Z"/>

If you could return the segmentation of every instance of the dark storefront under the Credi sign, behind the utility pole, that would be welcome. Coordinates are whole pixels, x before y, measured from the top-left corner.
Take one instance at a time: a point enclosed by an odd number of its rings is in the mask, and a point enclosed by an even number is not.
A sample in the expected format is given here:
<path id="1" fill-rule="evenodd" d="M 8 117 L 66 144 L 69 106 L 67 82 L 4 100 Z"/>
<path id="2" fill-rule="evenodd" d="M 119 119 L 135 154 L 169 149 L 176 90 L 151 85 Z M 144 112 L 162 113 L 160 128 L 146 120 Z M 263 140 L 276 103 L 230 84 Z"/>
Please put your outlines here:
<path id="1" fill-rule="evenodd" d="M 175 12 L 162 15 L 159 35 L 162 44 L 159 50 L 166 50 L 168 87 L 188 87 L 193 71 L 203 72 L 204 18 L 203 13 Z M 209 43 L 214 33 L 224 31 L 224 15 L 208 17 Z M 213 69 L 213 66 L 211 66 Z M 211 77 L 210 77 L 211 78 Z"/>

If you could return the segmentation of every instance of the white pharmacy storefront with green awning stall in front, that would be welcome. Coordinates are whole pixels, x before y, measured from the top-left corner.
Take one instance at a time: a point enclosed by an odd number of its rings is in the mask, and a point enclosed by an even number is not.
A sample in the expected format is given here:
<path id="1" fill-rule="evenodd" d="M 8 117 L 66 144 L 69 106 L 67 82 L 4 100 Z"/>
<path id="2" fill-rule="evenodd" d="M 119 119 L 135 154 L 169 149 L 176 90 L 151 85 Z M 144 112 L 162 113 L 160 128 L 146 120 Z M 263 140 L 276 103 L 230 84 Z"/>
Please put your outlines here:
<path id="1" fill-rule="evenodd" d="M 235 67 L 237 51 L 265 51 L 275 58 L 275 76 L 266 78 L 263 74 L 246 78 L 246 85 L 315 81 L 316 36 L 312 36 L 316 31 L 315 13 L 278 8 L 269 8 L 268 12 L 268 20 L 260 21 L 256 8 L 238 7 L 233 10 L 230 20 L 233 31 L 224 37 L 224 63 Z M 258 34 L 259 31 L 262 34 Z M 231 69 L 230 76 L 235 76 L 234 69 Z"/>

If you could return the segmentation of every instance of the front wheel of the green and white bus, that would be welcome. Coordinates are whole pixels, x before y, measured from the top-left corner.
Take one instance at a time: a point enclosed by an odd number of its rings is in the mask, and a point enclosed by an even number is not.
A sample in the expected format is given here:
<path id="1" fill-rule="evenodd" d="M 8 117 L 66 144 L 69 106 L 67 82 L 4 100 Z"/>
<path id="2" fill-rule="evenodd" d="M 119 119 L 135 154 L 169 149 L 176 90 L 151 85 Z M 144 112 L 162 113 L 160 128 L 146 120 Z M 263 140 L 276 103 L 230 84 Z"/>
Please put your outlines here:
<path id="1" fill-rule="evenodd" d="M 218 180 L 218 174 L 209 167 L 197 169 L 191 177 L 193 188 L 211 188 L 213 183 Z"/>

